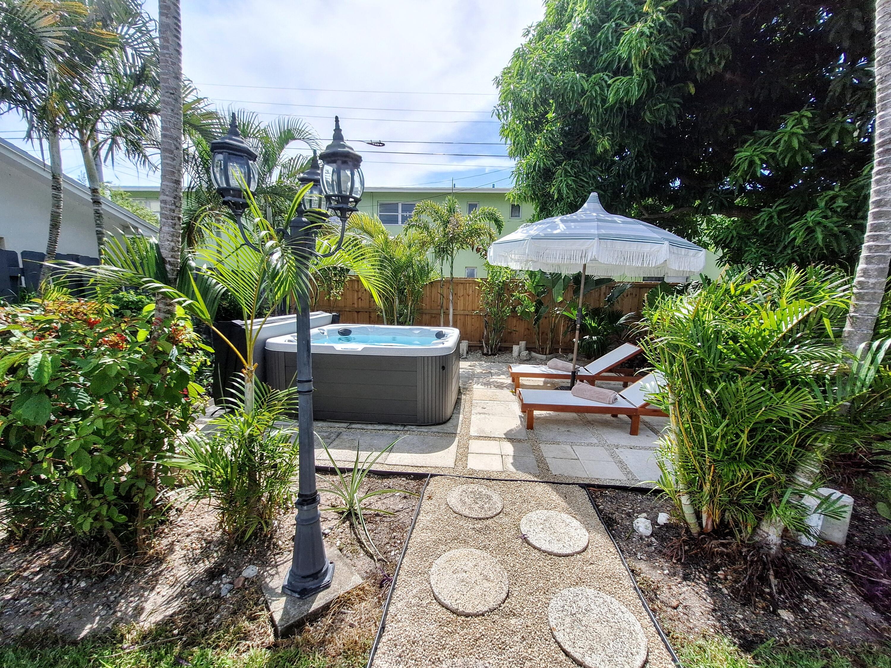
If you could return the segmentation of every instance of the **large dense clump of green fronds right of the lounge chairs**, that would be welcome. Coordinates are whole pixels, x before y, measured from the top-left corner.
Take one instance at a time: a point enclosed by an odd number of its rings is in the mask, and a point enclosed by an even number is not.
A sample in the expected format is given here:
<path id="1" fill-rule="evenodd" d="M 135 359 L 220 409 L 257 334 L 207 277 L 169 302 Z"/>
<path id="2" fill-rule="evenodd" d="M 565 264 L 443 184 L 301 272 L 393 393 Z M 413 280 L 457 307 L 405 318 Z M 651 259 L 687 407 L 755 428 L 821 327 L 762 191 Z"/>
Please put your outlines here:
<path id="1" fill-rule="evenodd" d="M 869 392 L 888 346 L 846 354 L 838 334 L 849 294 L 841 273 L 790 267 L 727 273 L 645 307 L 642 346 L 665 379 L 656 401 L 670 418 L 659 483 L 694 534 L 806 530 L 801 495 L 851 438 L 844 407 Z"/>

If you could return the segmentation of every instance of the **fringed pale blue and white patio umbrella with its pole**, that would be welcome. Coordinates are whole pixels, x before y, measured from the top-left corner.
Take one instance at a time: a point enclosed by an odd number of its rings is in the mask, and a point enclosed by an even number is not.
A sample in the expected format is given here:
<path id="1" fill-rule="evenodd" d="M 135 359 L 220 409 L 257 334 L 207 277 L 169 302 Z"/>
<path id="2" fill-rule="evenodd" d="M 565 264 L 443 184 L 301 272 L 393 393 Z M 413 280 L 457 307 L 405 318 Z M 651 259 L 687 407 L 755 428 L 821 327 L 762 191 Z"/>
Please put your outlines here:
<path id="1" fill-rule="evenodd" d="M 491 265 L 559 273 L 582 270 L 576 312 L 572 376 L 576 383 L 578 338 L 582 325 L 584 275 L 689 276 L 706 265 L 706 251 L 695 243 L 642 220 L 609 214 L 596 192 L 574 214 L 521 225 L 488 249 Z"/>

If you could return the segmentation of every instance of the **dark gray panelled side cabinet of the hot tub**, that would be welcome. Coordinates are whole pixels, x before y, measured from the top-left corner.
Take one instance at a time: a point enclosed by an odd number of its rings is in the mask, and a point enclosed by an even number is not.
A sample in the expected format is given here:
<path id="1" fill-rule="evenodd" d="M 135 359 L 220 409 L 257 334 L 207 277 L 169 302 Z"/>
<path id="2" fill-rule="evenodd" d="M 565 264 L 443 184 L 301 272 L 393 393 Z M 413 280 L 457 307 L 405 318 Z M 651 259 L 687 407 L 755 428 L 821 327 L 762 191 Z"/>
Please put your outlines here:
<path id="1" fill-rule="evenodd" d="M 266 382 L 283 389 L 297 371 L 296 355 L 266 350 Z M 313 354 L 315 420 L 436 425 L 458 400 L 459 351 L 402 356 Z"/>

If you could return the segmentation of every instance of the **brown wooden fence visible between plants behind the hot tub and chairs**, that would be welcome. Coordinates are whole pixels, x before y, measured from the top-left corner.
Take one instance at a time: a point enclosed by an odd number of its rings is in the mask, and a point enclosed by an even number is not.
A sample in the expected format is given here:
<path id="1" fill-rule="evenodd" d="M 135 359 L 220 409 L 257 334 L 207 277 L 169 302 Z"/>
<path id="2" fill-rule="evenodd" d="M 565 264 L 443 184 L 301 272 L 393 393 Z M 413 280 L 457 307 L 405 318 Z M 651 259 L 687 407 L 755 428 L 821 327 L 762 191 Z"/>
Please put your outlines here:
<path id="1" fill-rule="evenodd" d="M 616 307 L 623 313 L 640 314 L 643 299 L 650 289 L 658 283 L 632 283 L 631 287 L 618 298 Z M 592 306 L 603 305 L 603 300 L 609 295 L 615 283 L 593 289 L 584 297 L 584 303 Z M 443 322 L 439 322 L 439 281 L 429 283 L 424 289 L 424 297 L 418 309 L 418 317 L 414 324 L 437 327 L 440 324 L 448 325 L 448 280 L 444 284 L 445 316 Z M 569 291 L 568 291 L 569 292 Z M 569 299 L 571 295 L 568 294 Z M 356 278 L 347 281 L 343 296 L 339 299 L 330 299 L 323 293 L 316 302 L 315 308 L 321 311 L 340 314 L 340 322 L 356 324 L 382 324 L 377 306 L 374 304 L 371 294 L 364 288 L 362 282 Z M 454 327 L 461 330 L 461 338 L 470 341 L 470 346 L 481 346 L 483 338 L 483 318 L 479 312 L 479 284 L 476 279 L 454 280 Z M 566 319 L 563 318 L 565 321 Z M 542 329 L 547 327 L 545 319 Z M 568 324 L 568 322 L 567 322 Z M 566 351 L 572 346 L 572 334 L 564 335 L 567 325 L 560 323 L 555 332 L 556 341 L 554 352 Z M 504 332 L 502 347 L 510 347 L 526 341 L 527 347 L 535 349 L 535 335 L 532 327 L 526 320 L 517 315 L 511 315 L 508 320 L 508 330 Z"/>

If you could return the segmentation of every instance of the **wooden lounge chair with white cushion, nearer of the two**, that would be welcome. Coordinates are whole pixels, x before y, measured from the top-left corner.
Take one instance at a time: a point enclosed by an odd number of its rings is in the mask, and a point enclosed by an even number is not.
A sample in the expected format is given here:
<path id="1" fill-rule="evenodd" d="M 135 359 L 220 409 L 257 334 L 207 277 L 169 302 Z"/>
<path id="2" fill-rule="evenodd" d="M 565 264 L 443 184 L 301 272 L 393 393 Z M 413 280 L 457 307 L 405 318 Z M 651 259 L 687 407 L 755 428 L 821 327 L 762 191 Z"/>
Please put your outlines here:
<path id="1" fill-rule="evenodd" d="M 647 395 L 656 389 L 658 377 L 650 373 L 639 379 L 631 387 L 618 393 L 616 403 L 593 402 L 583 399 L 566 390 L 517 390 L 519 410 L 526 413 L 526 428 L 535 428 L 535 411 L 558 411 L 567 413 L 597 413 L 600 415 L 627 415 L 631 418 L 631 436 L 637 436 L 641 428 L 641 416 L 668 417 L 658 408 L 650 406 Z"/>

